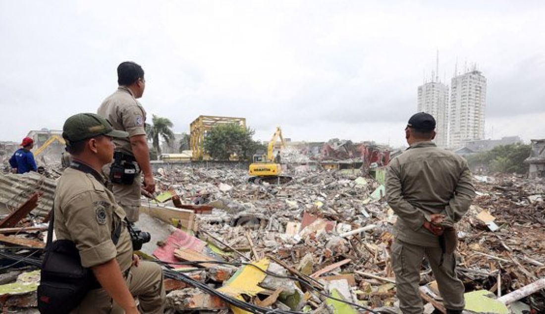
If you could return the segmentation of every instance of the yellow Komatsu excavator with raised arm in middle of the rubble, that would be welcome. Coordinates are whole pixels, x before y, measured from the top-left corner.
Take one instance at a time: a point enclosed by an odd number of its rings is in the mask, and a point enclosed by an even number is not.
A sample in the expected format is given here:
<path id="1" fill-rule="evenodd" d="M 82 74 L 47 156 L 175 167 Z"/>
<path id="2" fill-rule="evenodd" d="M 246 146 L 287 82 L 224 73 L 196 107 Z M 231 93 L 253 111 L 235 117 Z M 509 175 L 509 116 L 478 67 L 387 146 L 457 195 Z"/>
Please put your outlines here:
<path id="1" fill-rule="evenodd" d="M 286 147 L 286 142 L 282 137 L 280 126 L 276 127 L 276 132 L 267 147 L 267 155 L 253 155 L 253 162 L 250 165 L 250 178 L 248 182 L 260 184 L 262 182 L 286 183 L 292 180 L 290 176 L 282 176 L 282 166 L 280 165 L 280 152 L 277 158 L 274 156 L 274 146 L 276 140 L 280 138 L 280 147 Z"/>

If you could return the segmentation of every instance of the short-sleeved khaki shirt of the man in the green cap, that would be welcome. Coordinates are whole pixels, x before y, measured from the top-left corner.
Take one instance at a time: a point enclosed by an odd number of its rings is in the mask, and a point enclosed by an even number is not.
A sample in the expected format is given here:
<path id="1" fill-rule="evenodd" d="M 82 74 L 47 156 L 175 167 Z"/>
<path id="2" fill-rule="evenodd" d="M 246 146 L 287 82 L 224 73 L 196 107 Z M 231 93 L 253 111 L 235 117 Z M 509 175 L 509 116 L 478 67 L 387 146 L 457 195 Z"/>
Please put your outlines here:
<path id="1" fill-rule="evenodd" d="M 93 267 L 117 258 L 122 271 L 132 263 L 132 242 L 124 221 L 125 212 L 112 192 L 92 174 L 66 168 L 57 183 L 54 200 L 54 230 L 57 239 L 74 241 L 83 267 Z M 117 245 L 112 233 L 119 224 Z"/>

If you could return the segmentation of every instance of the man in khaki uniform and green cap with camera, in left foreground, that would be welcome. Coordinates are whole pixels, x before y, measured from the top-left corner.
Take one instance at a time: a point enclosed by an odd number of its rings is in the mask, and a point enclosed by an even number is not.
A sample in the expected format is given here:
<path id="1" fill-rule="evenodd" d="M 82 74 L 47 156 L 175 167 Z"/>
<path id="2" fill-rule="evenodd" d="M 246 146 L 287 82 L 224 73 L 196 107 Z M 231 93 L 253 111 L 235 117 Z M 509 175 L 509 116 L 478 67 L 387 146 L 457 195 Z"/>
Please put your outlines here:
<path id="1" fill-rule="evenodd" d="M 101 285 L 86 295 L 74 313 L 164 310 L 161 267 L 133 255 L 124 210 L 104 185 L 102 166 L 112 161 L 112 140 L 126 136 L 94 113 L 76 114 L 63 126 L 72 162 L 57 183 L 54 230 L 57 239 L 74 241 L 83 267 L 92 269 Z M 134 297 L 140 301 L 138 308 Z"/>

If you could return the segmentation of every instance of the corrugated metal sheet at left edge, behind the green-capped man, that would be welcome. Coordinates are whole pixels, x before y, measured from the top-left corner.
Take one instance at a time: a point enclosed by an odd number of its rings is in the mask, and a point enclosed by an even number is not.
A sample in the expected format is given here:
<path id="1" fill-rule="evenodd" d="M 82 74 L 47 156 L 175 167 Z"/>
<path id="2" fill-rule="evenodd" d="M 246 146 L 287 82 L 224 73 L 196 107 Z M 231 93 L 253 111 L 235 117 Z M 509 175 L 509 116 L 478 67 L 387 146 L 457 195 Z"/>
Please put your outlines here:
<path id="1" fill-rule="evenodd" d="M 0 174 L 0 214 L 9 214 L 19 208 L 35 192 L 43 192 L 38 207 L 32 213 L 46 215 L 52 208 L 56 181 L 37 172 Z"/>

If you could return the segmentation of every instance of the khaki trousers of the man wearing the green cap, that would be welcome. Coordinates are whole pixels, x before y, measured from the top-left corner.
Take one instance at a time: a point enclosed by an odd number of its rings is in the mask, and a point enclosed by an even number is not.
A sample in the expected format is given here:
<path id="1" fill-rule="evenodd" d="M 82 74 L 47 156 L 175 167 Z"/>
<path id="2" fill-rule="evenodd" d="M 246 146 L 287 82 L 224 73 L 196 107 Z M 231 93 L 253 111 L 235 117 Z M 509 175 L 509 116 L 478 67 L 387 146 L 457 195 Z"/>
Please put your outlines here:
<path id="1" fill-rule="evenodd" d="M 163 313 L 165 309 L 165 287 L 159 264 L 140 261 L 138 267 L 131 267 L 126 278 L 133 297 L 138 298 L 141 313 Z M 106 290 L 94 289 L 87 293 L 82 303 L 71 313 L 75 314 L 123 314 L 123 309 L 113 301 Z"/>

